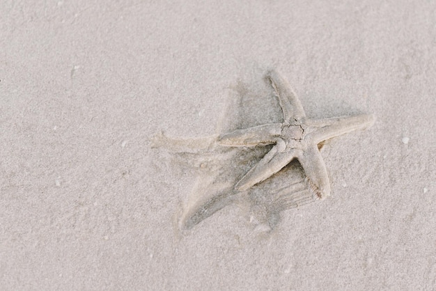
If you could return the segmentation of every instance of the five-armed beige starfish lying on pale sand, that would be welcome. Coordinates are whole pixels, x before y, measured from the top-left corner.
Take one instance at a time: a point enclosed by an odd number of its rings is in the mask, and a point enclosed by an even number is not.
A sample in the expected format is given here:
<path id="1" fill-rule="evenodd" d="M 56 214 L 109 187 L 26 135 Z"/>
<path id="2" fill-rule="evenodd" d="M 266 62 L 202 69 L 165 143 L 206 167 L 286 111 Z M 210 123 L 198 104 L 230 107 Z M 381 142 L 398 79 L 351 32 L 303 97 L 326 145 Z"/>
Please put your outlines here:
<path id="1" fill-rule="evenodd" d="M 293 159 L 298 159 L 306 173 L 306 180 L 316 198 L 325 199 L 330 194 L 327 168 L 318 144 L 334 136 L 357 129 L 371 127 L 373 115 L 342 116 L 314 120 L 306 117 L 302 104 L 279 72 L 267 73 L 274 93 L 283 111 L 283 123 L 270 123 L 238 129 L 219 137 L 222 146 L 265 146 L 272 149 L 235 184 L 235 190 L 245 191 L 270 178 Z"/>

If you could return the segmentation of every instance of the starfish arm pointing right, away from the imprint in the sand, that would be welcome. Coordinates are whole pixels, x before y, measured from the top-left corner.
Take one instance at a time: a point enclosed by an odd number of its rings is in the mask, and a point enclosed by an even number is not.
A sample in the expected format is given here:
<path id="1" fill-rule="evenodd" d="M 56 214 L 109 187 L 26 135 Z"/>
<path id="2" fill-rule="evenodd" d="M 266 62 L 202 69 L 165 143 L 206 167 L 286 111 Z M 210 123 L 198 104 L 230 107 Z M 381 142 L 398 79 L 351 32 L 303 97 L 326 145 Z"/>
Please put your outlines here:
<path id="1" fill-rule="evenodd" d="M 353 130 L 371 127 L 374 121 L 375 117 L 372 114 L 329 118 L 325 120 L 312 120 L 308 124 L 320 128 L 315 129 L 314 132 L 309 134 L 308 138 L 314 143 L 320 143 L 326 139 L 332 139 L 332 137 L 346 134 Z"/>

